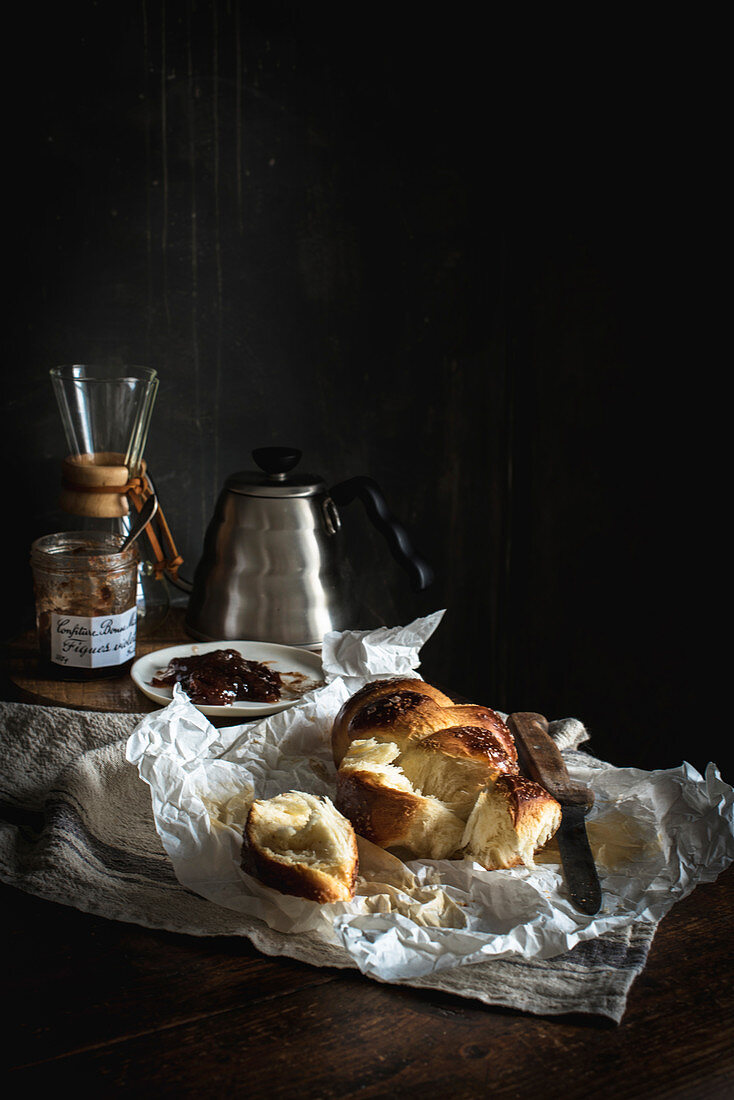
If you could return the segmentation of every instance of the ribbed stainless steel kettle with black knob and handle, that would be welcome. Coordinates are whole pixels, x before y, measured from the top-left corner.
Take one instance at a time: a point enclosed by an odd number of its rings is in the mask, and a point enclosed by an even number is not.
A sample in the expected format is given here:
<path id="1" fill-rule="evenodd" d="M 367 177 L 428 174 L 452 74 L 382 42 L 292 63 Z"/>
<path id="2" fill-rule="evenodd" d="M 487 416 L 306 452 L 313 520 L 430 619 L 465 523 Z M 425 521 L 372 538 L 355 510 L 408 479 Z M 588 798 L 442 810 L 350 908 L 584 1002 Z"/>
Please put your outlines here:
<path id="1" fill-rule="evenodd" d="M 259 448 L 259 470 L 227 479 L 194 576 L 186 616 L 193 637 L 313 646 L 328 630 L 357 626 L 339 517 L 355 498 L 413 588 L 432 581 L 372 479 L 327 490 L 320 477 L 293 472 L 300 457 L 292 448 Z"/>

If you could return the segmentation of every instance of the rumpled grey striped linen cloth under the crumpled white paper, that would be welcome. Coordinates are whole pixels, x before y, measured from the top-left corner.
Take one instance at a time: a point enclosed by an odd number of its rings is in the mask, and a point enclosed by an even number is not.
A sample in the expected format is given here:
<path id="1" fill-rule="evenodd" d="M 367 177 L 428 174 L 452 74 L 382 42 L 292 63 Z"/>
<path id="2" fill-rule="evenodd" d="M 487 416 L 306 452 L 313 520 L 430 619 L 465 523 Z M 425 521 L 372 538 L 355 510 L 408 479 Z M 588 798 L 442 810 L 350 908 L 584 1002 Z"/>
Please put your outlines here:
<path id="1" fill-rule="evenodd" d="M 180 886 L 155 831 L 150 789 L 125 760 L 142 717 L 0 702 L 0 880 L 114 921 L 245 936 L 264 955 L 354 968 L 346 950 L 316 935 L 276 932 Z M 589 736 L 576 719 L 550 732 L 567 754 Z M 618 1023 L 656 926 L 639 921 L 551 959 L 490 959 L 401 983 Z"/>

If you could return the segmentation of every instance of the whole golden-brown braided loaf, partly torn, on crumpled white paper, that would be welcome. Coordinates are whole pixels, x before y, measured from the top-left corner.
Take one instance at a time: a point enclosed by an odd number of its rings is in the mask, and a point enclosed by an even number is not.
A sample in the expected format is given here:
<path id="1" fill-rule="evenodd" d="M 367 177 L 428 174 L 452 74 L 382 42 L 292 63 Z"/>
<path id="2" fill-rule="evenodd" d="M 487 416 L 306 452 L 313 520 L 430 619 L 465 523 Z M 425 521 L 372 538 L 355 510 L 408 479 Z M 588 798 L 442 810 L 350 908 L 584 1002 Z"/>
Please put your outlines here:
<path id="1" fill-rule="evenodd" d="M 519 774 L 502 717 L 423 680 L 365 684 L 337 715 L 331 746 L 337 807 L 361 836 L 408 858 L 533 867 L 560 825 L 558 802 Z"/>

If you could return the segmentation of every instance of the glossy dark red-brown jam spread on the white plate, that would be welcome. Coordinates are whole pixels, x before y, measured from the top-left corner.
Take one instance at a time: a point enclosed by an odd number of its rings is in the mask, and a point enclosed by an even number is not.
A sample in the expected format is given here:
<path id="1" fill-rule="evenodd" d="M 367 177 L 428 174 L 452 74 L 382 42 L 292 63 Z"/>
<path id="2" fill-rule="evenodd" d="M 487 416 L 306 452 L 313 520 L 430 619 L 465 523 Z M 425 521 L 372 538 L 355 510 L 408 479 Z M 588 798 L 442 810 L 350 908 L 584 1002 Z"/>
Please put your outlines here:
<path id="1" fill-rule="evenodd" d="M 228 703 L 277 703 L 280 673 L 259 661 L 248 661 L 235 649 L 174 657 L 151 681 L 155 688 L 182 685 L 191 703 L 226 706 Z"/>

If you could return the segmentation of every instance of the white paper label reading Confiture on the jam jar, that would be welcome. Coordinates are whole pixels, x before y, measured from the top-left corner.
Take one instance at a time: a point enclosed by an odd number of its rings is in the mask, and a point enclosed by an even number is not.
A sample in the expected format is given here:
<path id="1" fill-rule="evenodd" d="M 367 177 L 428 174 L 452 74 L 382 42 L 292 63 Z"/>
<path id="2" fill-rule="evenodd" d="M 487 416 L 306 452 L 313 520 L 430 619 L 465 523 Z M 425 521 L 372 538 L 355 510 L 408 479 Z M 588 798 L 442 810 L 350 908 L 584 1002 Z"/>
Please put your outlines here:
<path id="1" fill-rule="evenodd" d="M 77 669 L 124 664 L 135 656 L 138 610 L 121 615 L 51 616 L 51 660 Z"/>

